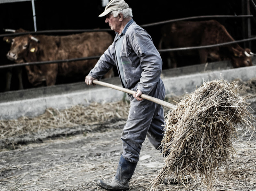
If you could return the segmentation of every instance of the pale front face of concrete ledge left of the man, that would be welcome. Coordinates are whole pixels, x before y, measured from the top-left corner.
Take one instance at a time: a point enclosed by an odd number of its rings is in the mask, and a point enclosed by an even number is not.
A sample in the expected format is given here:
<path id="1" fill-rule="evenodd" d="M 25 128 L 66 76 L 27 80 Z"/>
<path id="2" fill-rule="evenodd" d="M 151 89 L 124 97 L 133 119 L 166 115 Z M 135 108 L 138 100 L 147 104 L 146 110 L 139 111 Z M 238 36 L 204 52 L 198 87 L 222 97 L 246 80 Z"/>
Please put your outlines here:
<path id="1" fill-rule="evenodd" d="M 89 105 L 92 102 L 114 102 L 120 100 L 124 93 L 109 88 L 95 88 L 66 93 L 61 95 L 50 95 L 18 101 L 0 103 L 0 116 L 2 119 L 15 119 L 21 116 L 35 117 L 45 112 L 47 108 L 58 108 L 59 110 L 74 105 Z"/>

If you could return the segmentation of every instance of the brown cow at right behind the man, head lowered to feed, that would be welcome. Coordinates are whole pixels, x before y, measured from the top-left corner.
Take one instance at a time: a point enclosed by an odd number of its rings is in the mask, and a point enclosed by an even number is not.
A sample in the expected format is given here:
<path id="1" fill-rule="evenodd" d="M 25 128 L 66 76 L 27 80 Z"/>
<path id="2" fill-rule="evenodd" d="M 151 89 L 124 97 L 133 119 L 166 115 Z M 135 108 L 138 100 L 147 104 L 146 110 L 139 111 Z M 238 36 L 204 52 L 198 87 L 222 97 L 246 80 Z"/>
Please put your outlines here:
<path id="1" fill-rule="evenodd" d="M 163 26 L 159 49 L 204 46 L 231 41 L 234 41 L 232 36 L 216 20 L 178 21 Z M 162 53 L 163 60 L 169 57 L 171 62 L 171 65 L 168 63 L 169 67 L 186 65 L 185 62 L 190 65 L 221 60 L 230 60 L 233 67 L 250 66 L 251 56 L 249 49 L 245 50 L 237 43 L 207 49 Z"/>

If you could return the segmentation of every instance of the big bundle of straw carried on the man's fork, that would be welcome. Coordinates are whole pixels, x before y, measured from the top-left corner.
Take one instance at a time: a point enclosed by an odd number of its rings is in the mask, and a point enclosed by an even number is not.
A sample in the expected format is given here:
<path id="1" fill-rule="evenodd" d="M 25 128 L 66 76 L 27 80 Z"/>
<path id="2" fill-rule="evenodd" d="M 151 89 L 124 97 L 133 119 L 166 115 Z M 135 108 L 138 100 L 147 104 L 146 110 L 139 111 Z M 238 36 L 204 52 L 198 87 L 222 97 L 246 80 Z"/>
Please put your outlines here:
<path id="1" fill-rule="evenodd" d="M 235 82 L 204 81 L 166 114 L 162 147 L 169 155 L 151 190 L 171 176 L 184 185 L 184 177 L 190 176 L 211 190 L 216 170 L 223 166 L 228 172 L 230 155 L 235 153 L 232 140 L 239 139 L 238 127 L 243 132 L 255 131 L 247 97 L 238 96 L 237 89 Z"/>

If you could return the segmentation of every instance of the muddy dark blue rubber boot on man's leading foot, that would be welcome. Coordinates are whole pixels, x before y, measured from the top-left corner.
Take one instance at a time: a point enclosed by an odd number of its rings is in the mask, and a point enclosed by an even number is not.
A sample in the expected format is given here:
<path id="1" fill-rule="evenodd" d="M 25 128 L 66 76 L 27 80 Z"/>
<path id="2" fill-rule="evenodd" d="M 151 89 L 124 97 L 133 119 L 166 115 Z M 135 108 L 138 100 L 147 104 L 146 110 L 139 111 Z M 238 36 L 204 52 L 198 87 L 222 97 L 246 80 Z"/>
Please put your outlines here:
<path id="1" fill-rule="evenodd" d="M 129 180 L 132 178 L 137 163 L 131 163 L 121 155 L 112 180 L 97 180 L 97 185 L 106 190 L 129 190 Z"/>

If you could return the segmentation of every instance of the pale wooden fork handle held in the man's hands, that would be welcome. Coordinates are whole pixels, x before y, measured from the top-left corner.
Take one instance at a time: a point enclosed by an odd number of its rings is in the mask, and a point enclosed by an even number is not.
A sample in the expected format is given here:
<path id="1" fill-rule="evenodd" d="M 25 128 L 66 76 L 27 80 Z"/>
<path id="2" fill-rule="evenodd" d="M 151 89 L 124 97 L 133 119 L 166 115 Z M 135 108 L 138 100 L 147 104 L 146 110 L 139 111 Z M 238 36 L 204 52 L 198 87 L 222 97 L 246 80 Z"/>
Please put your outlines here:
<path id="1" fill-rule="evenodd" d="M 125 92 L 125 93 L 128 93 L 128 94 L 137 93 L 136 91 L 133 91 L 133 90 L 130 90 L 130 89 L 126 89 L 126 88 L 122 88 L 122 87 L 119 87 L 119 86 L 116 86 L 116 85 L 113 85 L 113 84 L 109 84 L 109 83 L 106 83 L 106 82 L 103 82 L 103 81 L 93 80 L 92 83 L 100 85 L 100 86 L 105 86 L 105 87 L 108 87 L 108 88 L 116 89 L 116 90 L 119 90 L 119 91 L 122 91 L 122 92 Z M 162 106 L 165 106 L 165 107 L 167 107 L 169 109 L 176 108 L 176 106 L 171 104 L 171 103 L 165 102 L 165 101 L 163 101 L 161 99 L 158 99 L 158 98 L 155 98 L 155 97 L 152 97 L 152 96 L 148 96 L 146 94 L 141 94 L 140 97 L 144 98 L 146 100 L 149 100 L 151 102 L 160 104 Z"/>

